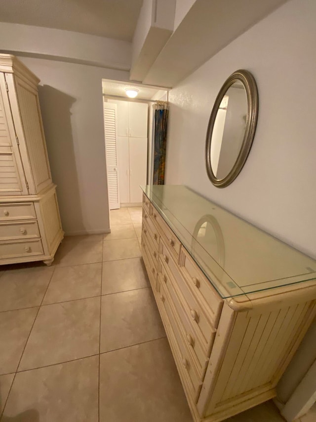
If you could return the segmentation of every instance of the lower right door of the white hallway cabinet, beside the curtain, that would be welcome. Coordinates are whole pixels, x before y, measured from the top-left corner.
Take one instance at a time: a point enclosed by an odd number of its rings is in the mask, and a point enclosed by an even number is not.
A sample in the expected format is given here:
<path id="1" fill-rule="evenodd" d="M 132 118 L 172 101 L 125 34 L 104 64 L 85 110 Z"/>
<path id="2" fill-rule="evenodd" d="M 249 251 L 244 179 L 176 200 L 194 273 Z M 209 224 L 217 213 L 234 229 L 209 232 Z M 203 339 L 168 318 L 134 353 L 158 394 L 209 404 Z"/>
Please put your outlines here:
<path id="1" fill-rule="evenodd" d="M 140 185 L 147 181 L 147 138 L 129 138 L 130 202 L 142 202 Z"/>

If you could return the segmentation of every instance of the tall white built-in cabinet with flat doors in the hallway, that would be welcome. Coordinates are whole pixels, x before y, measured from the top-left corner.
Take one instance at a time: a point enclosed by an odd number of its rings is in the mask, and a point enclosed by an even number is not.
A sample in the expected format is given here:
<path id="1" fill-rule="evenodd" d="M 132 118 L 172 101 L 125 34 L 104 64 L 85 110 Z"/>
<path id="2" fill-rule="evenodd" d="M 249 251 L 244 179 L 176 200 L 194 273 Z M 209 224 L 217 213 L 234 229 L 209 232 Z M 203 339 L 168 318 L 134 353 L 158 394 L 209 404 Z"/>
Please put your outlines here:
<path id="1" fill-rule="evenodd" d="M 121 204 L 142 202 L 140 185 L 147 182 L 148 104 L 117 101 L 117 153 Z"/>

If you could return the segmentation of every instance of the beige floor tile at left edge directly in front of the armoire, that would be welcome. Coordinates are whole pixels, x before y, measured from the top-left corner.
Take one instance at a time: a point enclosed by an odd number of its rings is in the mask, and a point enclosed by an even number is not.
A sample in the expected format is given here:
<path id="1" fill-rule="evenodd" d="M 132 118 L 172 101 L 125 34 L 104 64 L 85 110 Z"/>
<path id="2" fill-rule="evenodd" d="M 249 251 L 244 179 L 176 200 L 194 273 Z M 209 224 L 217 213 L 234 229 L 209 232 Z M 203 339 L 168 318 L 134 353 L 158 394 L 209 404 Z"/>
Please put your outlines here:
<path id="1" fill-rule="evenodd" d="M 47 267 L 5 271 L 0 278 L 0 311 L 40 305 L 53 271 Z"/>

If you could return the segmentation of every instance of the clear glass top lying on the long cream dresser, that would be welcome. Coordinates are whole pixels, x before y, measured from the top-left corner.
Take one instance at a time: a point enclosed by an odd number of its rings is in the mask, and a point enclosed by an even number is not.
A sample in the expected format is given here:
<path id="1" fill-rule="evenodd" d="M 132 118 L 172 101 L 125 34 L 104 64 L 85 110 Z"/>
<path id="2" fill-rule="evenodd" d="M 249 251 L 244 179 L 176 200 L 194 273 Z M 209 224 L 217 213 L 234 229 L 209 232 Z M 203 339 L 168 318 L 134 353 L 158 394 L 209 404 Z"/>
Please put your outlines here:
<path id="1" fill-rule="evenodd" d="M 314 280 L 316 261 L 185 186 L 144 193 L 223 297 Z"/>

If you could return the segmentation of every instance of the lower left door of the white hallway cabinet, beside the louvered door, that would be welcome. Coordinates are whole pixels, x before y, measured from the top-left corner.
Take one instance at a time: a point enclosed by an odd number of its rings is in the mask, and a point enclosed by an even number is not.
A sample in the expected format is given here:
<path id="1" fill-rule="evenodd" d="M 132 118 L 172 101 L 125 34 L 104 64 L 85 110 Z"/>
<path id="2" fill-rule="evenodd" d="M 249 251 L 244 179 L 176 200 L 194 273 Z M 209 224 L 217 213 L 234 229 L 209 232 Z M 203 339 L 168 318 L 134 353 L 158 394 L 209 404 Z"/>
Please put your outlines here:
<path id="1" fill-rule="evenodd" d="M 119 199 L 121 203 L 129 203 L 129 146 L 127 136 L 118 136 L 118 173 Z"/>

